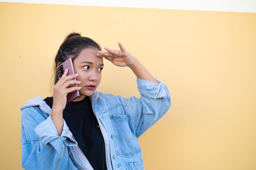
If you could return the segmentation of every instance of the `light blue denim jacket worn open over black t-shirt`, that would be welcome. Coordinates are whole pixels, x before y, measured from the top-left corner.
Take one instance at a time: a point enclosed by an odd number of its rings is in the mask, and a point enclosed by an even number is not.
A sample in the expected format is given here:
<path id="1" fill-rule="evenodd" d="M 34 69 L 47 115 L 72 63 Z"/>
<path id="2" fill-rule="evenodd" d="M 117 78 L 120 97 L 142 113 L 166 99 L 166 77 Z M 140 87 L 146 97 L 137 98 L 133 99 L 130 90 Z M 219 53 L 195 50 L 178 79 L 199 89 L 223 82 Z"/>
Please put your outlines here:
<path id="1" fill-rule="evenodd" d="M 169 91 L 137 79 L 140 98 L 124 98 L 95 91 L 92 108 L 105 140 L 108 170 L 144 170 L 138 137 L 160 119 L 171 106 Z M 21 116 L 22 168 L 26 170 L 93 170 L 77 146 L 64 120 L 58 136 L 52 109 L 41 97 L 24 106 Z"/>

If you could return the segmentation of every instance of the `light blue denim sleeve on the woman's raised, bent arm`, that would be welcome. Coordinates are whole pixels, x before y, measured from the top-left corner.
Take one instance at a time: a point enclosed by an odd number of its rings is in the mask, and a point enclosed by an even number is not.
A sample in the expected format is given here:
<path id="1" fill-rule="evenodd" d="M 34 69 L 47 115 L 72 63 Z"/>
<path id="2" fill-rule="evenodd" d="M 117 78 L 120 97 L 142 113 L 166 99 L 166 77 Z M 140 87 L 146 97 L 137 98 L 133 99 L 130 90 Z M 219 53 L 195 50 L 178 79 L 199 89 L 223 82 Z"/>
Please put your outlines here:
<path id="1" fill-rule="evenodd" d="M 125 102 L 135 135 L 139 137 L 170 108 L 171 99 L 168 88 L 156 79 L 158 84 L 137 78 L 140 98 L 130 97 Z"/>

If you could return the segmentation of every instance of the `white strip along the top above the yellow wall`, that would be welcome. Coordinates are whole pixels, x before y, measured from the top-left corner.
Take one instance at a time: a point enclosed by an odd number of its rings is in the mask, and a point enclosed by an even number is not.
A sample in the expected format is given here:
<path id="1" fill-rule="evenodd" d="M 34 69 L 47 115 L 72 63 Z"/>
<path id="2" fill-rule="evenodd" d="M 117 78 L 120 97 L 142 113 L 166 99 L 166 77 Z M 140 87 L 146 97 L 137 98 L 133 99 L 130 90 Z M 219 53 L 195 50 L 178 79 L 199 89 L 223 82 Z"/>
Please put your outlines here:
<path id="1" fill-rule="evenodd" d="M 256 13 L 256 0 L 0 0 L 0 2 Z"/>

